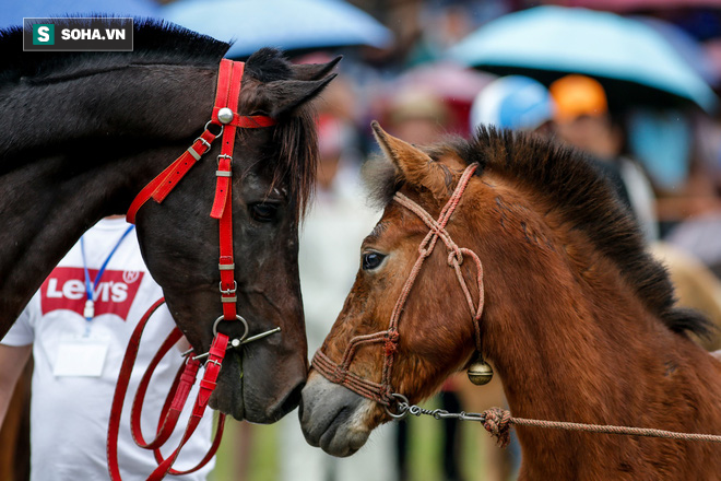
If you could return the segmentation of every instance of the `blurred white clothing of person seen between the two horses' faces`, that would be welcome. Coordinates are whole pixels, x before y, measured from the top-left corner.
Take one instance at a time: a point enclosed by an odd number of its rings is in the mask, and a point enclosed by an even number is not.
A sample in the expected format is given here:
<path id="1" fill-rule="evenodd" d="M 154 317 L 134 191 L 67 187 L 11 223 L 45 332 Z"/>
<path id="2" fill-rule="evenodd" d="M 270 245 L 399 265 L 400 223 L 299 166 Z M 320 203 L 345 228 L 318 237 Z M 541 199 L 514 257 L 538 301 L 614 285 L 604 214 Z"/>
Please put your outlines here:
<path id="1" fill-rule="evenodd" d="M 310 356 L 343 308 L 361 265 L 363 238 L 380 219 L 380 211 L 366 204 L 358 164 L 350 161 L 342 159 L 330 190 L 319 189 L 300 232 L 298 266 Z M 282 481 L 399 479 L 393 459 L 394 423 L 374 430 L 368 443 L 347 458 L 335 458 L 308 445 L 297 415 L 286 415 L 279 424 Z"/>

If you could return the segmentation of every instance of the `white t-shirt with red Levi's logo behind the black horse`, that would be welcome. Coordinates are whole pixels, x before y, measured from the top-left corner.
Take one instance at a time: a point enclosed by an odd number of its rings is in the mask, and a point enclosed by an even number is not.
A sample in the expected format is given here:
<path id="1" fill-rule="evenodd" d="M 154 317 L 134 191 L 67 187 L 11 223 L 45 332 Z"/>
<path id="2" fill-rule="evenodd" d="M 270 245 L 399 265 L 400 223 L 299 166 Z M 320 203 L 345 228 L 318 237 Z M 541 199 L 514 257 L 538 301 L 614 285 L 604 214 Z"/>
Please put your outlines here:
<path id="1" fill-rule="evenodd" d="M 91 282 L 128 226 L 122 219 L 104 219 L 85 233 Z M 163 296 L 143 262 L 134 231 L 120 243 L 97 284 L 95 317 L 91 321 L 83 317 L 86 301 L 84 279 L 83 257 L 78 243 L 46 279 L 1 341 L 8 345 L 33 344 L 32 480 L 109 479 L 106 438 L 122 357 L 138 321 Z M 125 481 L 145 480 L 157 466 L 153 453 L 141 449 L 132 441 L 129 417 L 138 383 L 173 326 L 173 318 L 163 305 L 143 332 L 120 420 L 118 462 Z M 96 365 L 99 376 L 72 375 L 75 373 L 73 363 L 68 367 L 68 360 L 63 359 L 63 353 L 68 352 L 68 340 L 83 337 L 87 328 L 96 352 L 102 352 L 105 349 L 103 345 L 107 345 L 105 362 L 102 367 Z M 179 354 L 178 349 L 172 349 L 151 380 L 142 418 L 146 442 L 155 437 L 161 408 L 182 362 Z M 76 361 L 79 356 L 71 357 Z M 102 354 L 95 357 L 102 357 Z M 60 374 L 58 369 L 66 369 L 66 373 L 70 369 L 71 375 L 56 375 Z M 202 369 L 199 372 L 201 375 Z M 165 456 L 180 441 L 196 399 L 197 385 L 188 398 L 176 432 L 162 449 Z M 211 413 L 209 409 L 182 448 L 174 469 L 191 468 L 205 455 L 211 444 Z M 214 460 L 198 472 L 173 479 L 204 480 L 213 466 Z"/>

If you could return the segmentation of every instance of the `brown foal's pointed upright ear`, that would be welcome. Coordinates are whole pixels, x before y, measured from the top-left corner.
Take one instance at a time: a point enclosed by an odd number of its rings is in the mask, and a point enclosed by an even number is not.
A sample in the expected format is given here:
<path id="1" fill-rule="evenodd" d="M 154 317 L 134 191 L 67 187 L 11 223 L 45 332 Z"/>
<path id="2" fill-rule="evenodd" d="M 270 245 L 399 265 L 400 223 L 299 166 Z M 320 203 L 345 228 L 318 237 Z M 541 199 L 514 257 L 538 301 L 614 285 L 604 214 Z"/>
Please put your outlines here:
<path id="1" fill-rule="evenodd" d="M 383 154 L 405 181 L 416 187 L 425 187 L 437 199 L 448 195 L 446 173 L 428 154 L 390 136 L 376 120 L 370 122 L 370 127 Z"/>

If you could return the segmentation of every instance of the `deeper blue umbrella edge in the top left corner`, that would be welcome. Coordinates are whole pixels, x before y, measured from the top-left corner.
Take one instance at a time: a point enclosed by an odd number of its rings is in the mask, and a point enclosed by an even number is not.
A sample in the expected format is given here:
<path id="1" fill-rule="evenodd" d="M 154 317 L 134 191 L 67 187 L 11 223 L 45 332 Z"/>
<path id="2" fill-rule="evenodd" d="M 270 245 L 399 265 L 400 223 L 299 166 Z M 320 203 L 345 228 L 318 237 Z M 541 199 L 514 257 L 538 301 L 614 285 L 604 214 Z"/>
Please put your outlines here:
<path id="1" fill-rule="evenodd" d="M 17 0 L 0 2 L 0 28 L 22 26 L 23 17 L 82 15 L 157 16 L 153 0 Z"/>

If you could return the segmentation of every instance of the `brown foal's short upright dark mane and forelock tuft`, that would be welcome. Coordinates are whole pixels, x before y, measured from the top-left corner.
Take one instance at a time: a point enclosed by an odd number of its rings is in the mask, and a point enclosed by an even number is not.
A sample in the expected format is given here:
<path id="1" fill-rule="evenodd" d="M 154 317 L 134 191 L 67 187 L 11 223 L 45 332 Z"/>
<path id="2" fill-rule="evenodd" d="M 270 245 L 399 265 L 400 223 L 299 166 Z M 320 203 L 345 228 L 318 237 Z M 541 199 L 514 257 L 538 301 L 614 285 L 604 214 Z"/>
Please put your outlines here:
<path id="1" fill-rule="evenodd" d="M 456 154 L 466 165 L 513 179 L 518 185 L 556 206 L 556 211 L 583 232 L 592 245 L 614 261 L 648 308 L 674 332 L 708 335 L 710 325 L 700 314 L 675 306 L 673 285 L 665 268 L 646 249 L 628 210 L 616 199 L 605 177 L 576 150 L 534 134 L 482 127 L 471 140 L 449 138 L 422 148 L 434 161 Z M 368 164 L 365 179 L 371 201 L 385 207 L 403 186 L 390 162 Z"/>

